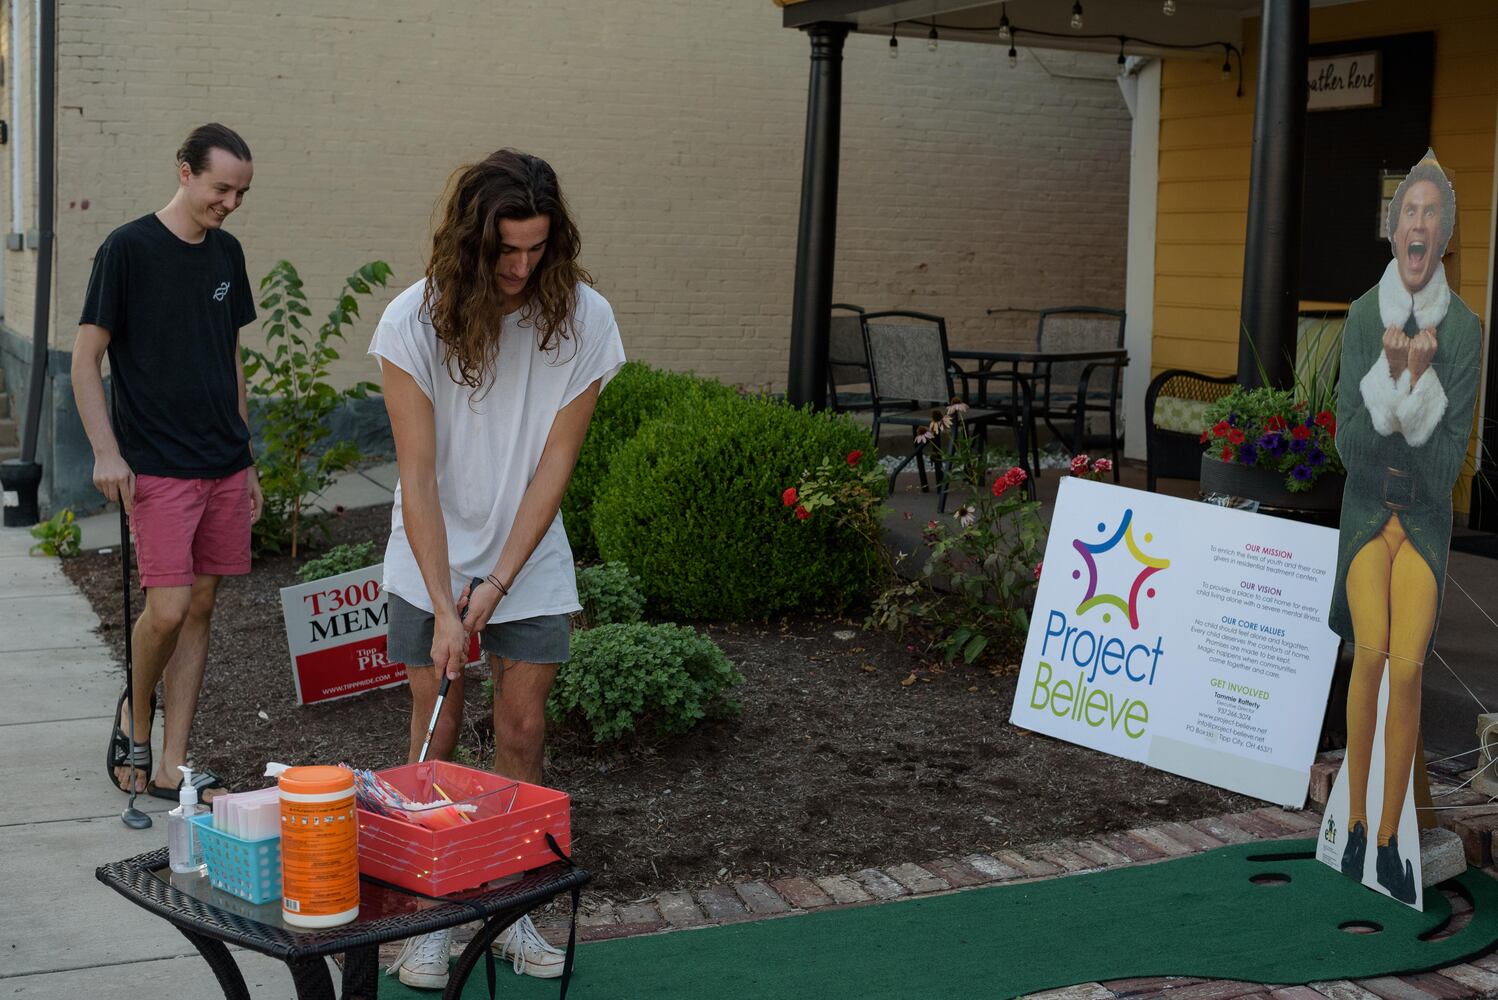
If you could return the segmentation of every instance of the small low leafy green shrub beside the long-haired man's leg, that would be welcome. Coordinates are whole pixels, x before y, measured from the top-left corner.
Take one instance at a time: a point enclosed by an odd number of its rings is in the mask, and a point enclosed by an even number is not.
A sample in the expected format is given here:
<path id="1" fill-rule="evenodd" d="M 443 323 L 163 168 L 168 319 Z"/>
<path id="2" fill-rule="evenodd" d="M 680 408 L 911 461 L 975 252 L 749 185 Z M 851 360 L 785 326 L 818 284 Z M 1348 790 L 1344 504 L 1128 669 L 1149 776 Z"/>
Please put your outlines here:
<path id="1" fill-rule="evenodd" d="M 673 737 L 707 716 L 737 716 L 728 689 L 743 681 L 724 651 L 692 629 L 616 623 L 572 635 L 547 716 L 581 726 L 595 743 Z"/>

